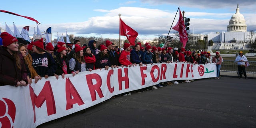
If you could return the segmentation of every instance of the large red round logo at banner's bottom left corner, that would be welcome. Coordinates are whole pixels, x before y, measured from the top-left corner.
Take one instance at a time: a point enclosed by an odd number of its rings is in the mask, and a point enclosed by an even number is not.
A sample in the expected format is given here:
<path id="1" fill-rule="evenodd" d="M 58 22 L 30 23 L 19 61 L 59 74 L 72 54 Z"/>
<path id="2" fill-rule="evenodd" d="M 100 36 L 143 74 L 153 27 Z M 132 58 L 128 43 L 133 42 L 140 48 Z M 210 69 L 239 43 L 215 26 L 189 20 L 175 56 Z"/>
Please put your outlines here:
<path id="1" fill-rule="evenodd" d="M 11 128 L 16 114 L 16 107 L 12 100 L 7 98 L 0 99 L 0 124 L 2 128 Z"/>

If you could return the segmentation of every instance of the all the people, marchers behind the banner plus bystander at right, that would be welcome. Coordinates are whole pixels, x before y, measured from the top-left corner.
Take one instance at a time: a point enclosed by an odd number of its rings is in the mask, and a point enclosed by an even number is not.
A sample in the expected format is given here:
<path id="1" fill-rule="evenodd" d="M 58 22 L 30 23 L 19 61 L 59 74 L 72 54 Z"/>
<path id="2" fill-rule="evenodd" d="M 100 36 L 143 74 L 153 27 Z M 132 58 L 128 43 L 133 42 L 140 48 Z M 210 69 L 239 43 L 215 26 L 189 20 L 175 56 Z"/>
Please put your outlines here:
<path id="1" fill-rule="evenodd" d="M 3 34 L 3 35 L 2 35 Z M 16 85 L 26 86 L 31 84 L 32 79 L 35 79 L 35 83 L 41 79 L 41 77 L 48 78 L 49 76 L 58 76 L 64 78 L 66 74 L 72 74 L 75 76 L 79 72 L 91 71 L 95 69 L 108 70 L 111 68 L 131 67 L 131 66 L 147 66 L 147 64 L 154 63 L 176 63 L 186 62 L 189 64 L 207 64 L 216 63 L 217 77 L 219 79 L 220 67 L 222 57 L 218 52 L 216 56 L 212 58 L 209 53 L 202 52 L 197 54 L 195 51 L 181 48 L 160 48 L 151 46 L 150 43 L 146 42 L 143 47 L 138 42 L 134 47 L 130 46 L 129 43 L 124 43 L 123 48 L 118 48 L 110 40 L 106 40 L 105 43 L 100 44 L 96 47 L 96 41 L 90 40 L 88 47 L 84 45 L 81 47 L 81 42 L 75 40 L 74 45 L 69 48 L 64 42 L 58 42 L 57 46 L 53 47 L 52 43 L 48 43 L 44 50 L 43 40 L 34 40 L 34 42 L 27 44 L 18 45 L 16 38 L 2 33 L 4 46 L 0 47 L 0 59 L 1 66 L 7 66 L 4 61 L 12 63 L 12 73 L 2 74 L 0 78 L 0 85 Z M 17 47 L 17 48 L 16 48 Z M 54 52 L 56 50 L 56 52 Z M 20 51 L 20 52 L 18 52 Z M 52 54 L 54 52 L 54 54 Z M 70 53 L 68 53 L 70 52 Z M 242 54 L 241 54 L 242 55 Z M 11 58 L 11 56 L 14 56 Z M 6 60 L 6 59 L 9 60 Z M 238 56 L 239 58 L 239 56 Z M 240 56 L 238 60 L 238 68 L 240 72 L 245 72 L 244 64 L 242 62 L 247 61 L 245 56 Z M 27 67 L 27 70 L 26 70 Z M 7 69 L 1 69 L 7 70 Z M 10 70 L 10 69 L 8 69 Z M 5 71 L 4 71 L 5 72 Z M 246 73 L 244 73 L 246 78 Z M 240 75 L 240 77 L 242 77 Z M 179 81 L 180 82 L 180 81 Z M 147 88 L 135 90 L 134 92 L 144 92 L 157 89 L 163 86 L 179 84 L 178 81 L 162 82 Z M 183 81 L 181 81 L 183 82 Z M 184 82 L 190 82 L 185 80 Z M 131 92 L 122 94 L 123 96 L 130 95 Z"/>

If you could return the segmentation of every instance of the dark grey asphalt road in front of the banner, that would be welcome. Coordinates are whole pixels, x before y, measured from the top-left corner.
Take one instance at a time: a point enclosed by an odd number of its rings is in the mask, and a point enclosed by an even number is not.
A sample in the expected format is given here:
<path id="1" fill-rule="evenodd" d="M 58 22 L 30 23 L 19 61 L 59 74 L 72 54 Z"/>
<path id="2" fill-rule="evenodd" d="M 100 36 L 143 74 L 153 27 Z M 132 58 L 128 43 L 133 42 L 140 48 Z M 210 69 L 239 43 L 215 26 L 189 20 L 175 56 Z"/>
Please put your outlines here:
<path id="1" fill-rule="evenodd" d="M 255 128 L 255 82 L 222 76 L 116 96 L 37 128 Z"/>

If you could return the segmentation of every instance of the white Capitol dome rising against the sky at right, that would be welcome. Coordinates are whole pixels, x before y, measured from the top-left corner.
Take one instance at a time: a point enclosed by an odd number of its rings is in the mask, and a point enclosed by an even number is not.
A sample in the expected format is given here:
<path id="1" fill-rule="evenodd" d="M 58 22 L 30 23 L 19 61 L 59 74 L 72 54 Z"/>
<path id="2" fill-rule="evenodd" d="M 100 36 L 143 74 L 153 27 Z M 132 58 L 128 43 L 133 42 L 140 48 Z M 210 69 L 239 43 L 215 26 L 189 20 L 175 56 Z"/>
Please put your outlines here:
<path id="1" fill-rule="evenodd" d="M 237 4 L 236 13 L 229 20 L 228 32 L 247 32 L 244 16 L 239 12 Z"/>

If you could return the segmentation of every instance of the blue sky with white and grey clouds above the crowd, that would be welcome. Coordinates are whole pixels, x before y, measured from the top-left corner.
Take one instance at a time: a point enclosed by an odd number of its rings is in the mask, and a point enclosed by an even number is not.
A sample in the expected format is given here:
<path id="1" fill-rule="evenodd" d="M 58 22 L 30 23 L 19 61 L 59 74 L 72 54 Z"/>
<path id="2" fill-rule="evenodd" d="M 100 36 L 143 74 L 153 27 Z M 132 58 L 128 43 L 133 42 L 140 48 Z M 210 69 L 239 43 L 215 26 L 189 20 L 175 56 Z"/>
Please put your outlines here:
<path id="1" fill-rule="evenodd" d="M 121 19 L 138 32 L 138 38 L 152 39 L 168 34 L 173 20 L 173 26 L 178 20 L 179 13 L 174 19 L 178 7 L 190 18 L 190 33 L 226 32 L 237 4 L 247 30 L 256 30 L 256 0 L 5 0 L 0 10 L 38 20 L 41 32 L 52 27 L 53 38 L 57 32 L 66 36 L 66 30 L 75 36 L 119 38 L 121 14 Z M 20 31 L 30 26 L 33 36 L 36 22 L 0 12 L 1 28 L 5 29 L 6 23 L 13 30 L 13 22 Z M 171 29 L 170 34 L 173 32 Z"/>

